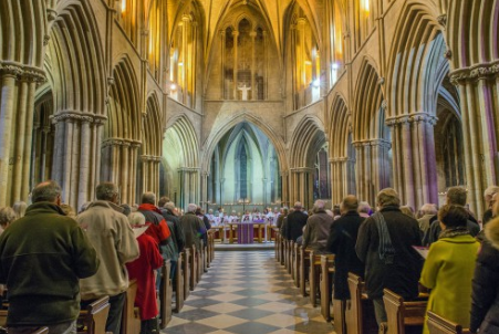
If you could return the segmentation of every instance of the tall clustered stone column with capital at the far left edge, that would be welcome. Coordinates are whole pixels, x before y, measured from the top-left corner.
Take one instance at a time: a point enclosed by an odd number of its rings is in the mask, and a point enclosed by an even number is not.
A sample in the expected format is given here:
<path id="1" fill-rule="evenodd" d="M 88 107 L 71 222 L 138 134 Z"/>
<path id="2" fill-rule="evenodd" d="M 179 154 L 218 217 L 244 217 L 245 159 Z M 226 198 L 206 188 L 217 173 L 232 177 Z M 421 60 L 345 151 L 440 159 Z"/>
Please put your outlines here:
<path id="1" fill-rule="evenodd" d="M 0 61 L 0 207 L 28 200 L 34 92 L 43 71 Z"/>

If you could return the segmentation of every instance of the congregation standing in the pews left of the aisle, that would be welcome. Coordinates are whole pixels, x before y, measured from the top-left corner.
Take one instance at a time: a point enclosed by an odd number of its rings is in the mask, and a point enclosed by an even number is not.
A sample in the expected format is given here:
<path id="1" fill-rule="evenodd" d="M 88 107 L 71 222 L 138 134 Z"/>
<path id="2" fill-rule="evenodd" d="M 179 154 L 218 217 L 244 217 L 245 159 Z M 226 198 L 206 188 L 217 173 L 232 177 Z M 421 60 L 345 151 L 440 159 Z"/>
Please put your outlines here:
<path id="1" fill-rule="evenodd" d="M 0 283 L 8 300 L 9 333 L 76 333 L 80 310 L 108 296 L 106 333 L 121 333 L 126 290 L 136 280 L 141 334 L 158 333 L 158 292 L 164 261 L 185 248 L 207 246 L 209 219 L 189 203 L 181 215 L 153 192 L 141 205 L 119 202 L 112 182 L 96 187 L 96 200 L 79 212 L 61 202 L 54 181 L 39 184 L 32 203 L 0 208 Z M 173 284 L 175 286 L 175 284 Z M 6 293 L 3 293 L 6 292 Z"/>

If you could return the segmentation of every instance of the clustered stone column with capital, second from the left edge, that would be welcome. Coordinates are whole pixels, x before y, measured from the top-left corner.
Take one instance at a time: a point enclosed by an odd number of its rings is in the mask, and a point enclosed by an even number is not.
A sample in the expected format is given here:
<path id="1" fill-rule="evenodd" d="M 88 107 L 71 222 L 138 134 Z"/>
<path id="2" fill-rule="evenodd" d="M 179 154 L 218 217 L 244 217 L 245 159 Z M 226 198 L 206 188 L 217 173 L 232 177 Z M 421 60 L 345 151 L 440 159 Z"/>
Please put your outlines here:
<path id="1" fill-rule="evenodd" d="M 92 113 L 59 112 L 52 178 L 63 190 L 62 201 L 77 209 L 94 199 L 101 170 L 100 143 L 106 116 Z"/>

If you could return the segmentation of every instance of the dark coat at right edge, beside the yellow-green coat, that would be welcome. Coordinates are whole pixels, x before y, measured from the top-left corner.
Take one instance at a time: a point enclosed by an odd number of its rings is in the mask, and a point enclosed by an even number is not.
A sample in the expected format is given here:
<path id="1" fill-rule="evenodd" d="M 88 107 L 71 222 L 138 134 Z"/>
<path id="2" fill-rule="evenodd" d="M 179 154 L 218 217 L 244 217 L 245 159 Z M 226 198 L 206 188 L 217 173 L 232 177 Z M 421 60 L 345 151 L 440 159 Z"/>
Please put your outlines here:
<path id="1" fill-rule="evenodd" d="M 472 333 L 499 333 L 499 250 L 484 241 L 477 258 L 472 280 L 471 321 Z"/>

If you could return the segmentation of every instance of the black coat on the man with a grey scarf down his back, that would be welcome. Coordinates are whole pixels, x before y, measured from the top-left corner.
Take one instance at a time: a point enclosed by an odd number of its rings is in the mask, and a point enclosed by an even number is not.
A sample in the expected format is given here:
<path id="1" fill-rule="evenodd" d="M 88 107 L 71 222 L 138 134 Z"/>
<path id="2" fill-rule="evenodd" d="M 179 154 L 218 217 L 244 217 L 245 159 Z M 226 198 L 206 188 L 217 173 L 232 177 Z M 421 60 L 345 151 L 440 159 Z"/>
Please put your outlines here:
<path id="1" fill-rule="evenodd" d="M 392 264 L 380 259 L 380 233 L 373 217 L 367 218 L 358 230 L 355 251 L 365 263 L 365 286 L 370 299 L 383 298 L 383 289 L 389 289 L 405 300 L 418 295 L 418 281 L 423 258 L 413 249 L 420 246 L 419 226 L 397 208 L 381 210 L 385 218 L 392 244 L 395 250 Z"/>

